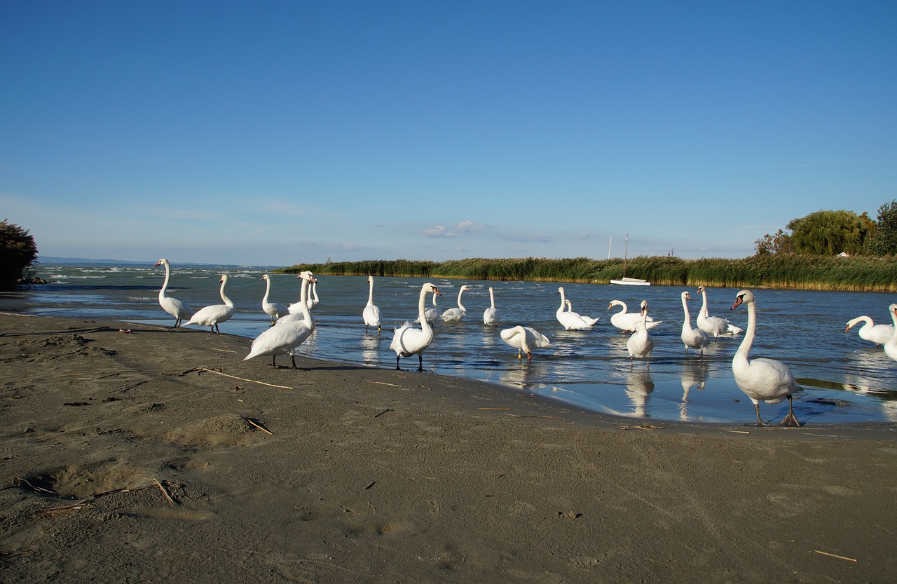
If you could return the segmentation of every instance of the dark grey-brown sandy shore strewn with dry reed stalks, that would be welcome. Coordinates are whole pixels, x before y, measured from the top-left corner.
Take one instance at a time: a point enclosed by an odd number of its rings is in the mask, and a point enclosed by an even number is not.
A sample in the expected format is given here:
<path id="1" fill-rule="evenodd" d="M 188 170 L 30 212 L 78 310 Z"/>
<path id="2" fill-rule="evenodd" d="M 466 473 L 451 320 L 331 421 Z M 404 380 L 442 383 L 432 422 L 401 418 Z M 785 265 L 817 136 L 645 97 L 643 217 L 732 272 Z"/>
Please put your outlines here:
<path id="1" fill-rule="evenodd" d="M 897 580 L 892 426 L 642 424 L 196 329 L 0 332 L 6 583 Z"/>

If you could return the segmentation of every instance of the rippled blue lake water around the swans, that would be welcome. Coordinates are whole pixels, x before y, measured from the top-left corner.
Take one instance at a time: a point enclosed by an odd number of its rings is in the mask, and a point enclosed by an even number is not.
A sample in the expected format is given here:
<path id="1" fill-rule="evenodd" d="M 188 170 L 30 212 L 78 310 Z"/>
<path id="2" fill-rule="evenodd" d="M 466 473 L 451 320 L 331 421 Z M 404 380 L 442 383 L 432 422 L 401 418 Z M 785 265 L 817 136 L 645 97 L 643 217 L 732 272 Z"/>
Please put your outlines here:
<path id="1" fill-rule="evenodd" d="M 231 276 L 227 293 L 237 314 L 221 325 L 222 333 L 255 337 L 270 324 L 261 310 L 264 267 L 172 266 L 169 294 L 194 309 L 218 304 L 218 280 Z M 74 318 L 110 318 L 152 325 L 174 324 L 159 306 L 157 294 L 164 269 L 147 266 L 39 266 L 38 275 L 53 282 L 31 290 L 0 294 L 0 309 Z M 292 275 L 272 275 L 271 299 L 282 303 L 299 300 L 300 280 Z M 720 337 L 699 358 L 686 356 L 679 339 L 684 320 L 680 292 L 692 294 L 689 308 L 694 317 L 701 307 L 695 288 L 668 286 L 618 286 L 579 283 L 481 282 L 431 279 L 443 295 L 440 311 L 456 306 L 457 292 L 469 285 L 462 302 L 467 316 L 457 325 L 437 324 L 435 338 L 424 352 L 428 371 L 469 379 L 481 379 L 518 391 L 557 400 L 583 410 L 627 416 L 642 421 L 691 423 L 753 423 L 753 405 L 737 388 L 732 375 L 732 356 L 741 336 Z M 379 305 L 382 332 L 365 333 L 361 310 L 368 298 L 366 277 L 318 276 L 320 305 L 314 311 L 315 334 L 302 344 L 300 353 L 335 362 L 393 369 L 396 353 L 390 351 L 393 330 L 417 317 L 417 299 L 424 282 L 417 278 L 377 278 L 374 302 Z M 554 316 L 560 305 L 562 285 L 573 309 L 600 316 L 595 327 L 565 331 Z M 483 310 L 489 307 L 489 286 L 501 313 L 498 328 L 483 326 Z M 746 327 L 745 309 L 730 310 L 735 289 L 710 289 L 710 314 L 729 318 Z M 897 421 L 897 362 L 884 351 L 860 339 L 856 328 L 844 327 L 850 318 L 872 317 L 891 322 L 887 307 L 893 294 L 867 292 L 754 291 L 759 310 L 757 338 L 752 357 L 771 357 L 785 362 L 805 391 L 796 395 L 795 413 L 806 426 L 830 423 L 882 423 Z M 655 341 L 650 368 L 643 361 L 631 365 L 626 337 L 611 326 L 609 301 L 626 302 L 630 311 L 641 300 L 649 312 L 663 321 L 651 330 Z M 429 304 L 429 300 L 428 300 Z M 519 360 L 517 351 L 499 336 L 501 328 L 535 327 L 552 346 L 534 351 L 532 362 Z M 204 330 L 205 327 L 190 327 Z M 198 338 L 198 337 L 197 337 Z M 259 358 L 258 366 L 268 365 Z M 285 362 L 285 361 L 282 361 Z M 402 360 L 403 369 L 417 367 L 416 356 Z M 426 375 L 426 373 L 422 373 Z M 761 404 L 763 419 L 779 423 L 787 402 Z"/>

